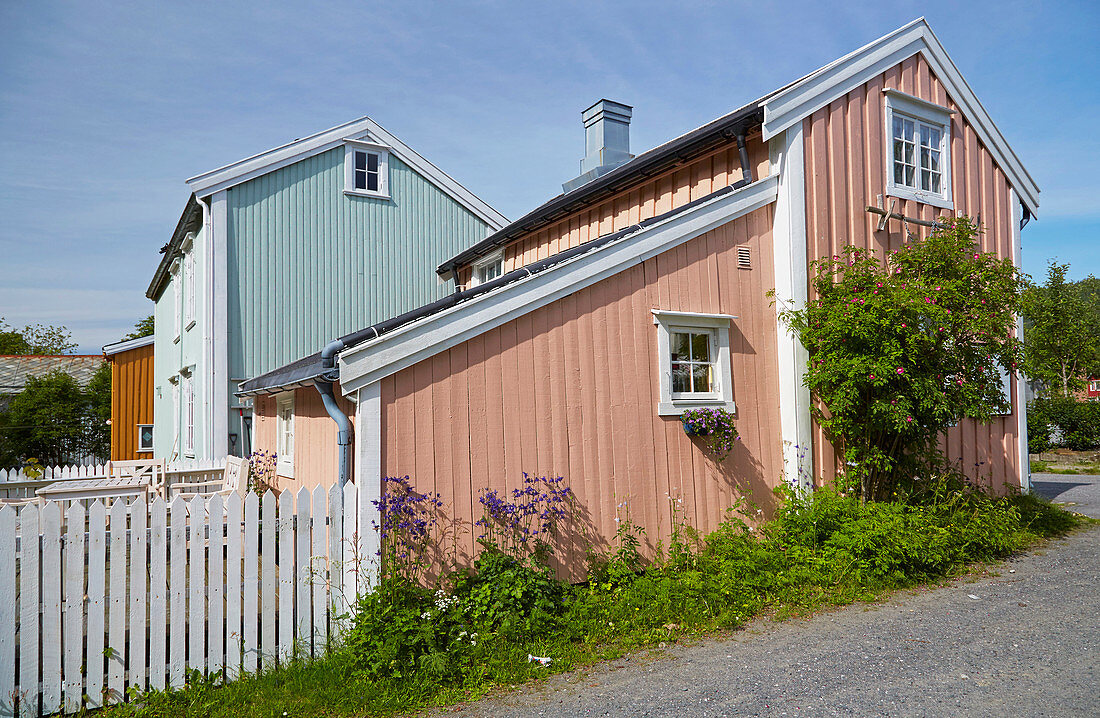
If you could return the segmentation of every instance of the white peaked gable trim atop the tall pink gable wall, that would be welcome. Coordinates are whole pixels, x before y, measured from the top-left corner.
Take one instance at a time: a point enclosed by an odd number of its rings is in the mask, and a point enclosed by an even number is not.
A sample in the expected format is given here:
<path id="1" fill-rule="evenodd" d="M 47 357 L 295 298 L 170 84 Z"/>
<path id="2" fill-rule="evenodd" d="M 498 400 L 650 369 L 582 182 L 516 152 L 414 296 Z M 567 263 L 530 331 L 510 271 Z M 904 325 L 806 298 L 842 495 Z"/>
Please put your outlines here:
<path id="1" fill-rule="evenodd" d="M 876 75 L 921 53 L 932 71 L 943 82 L 952 100 L 993 156 L 997 166 L 1008 176 L 1009 184 L 1033 216 L 1038 213 L 1038 185 L 1009 146 L 1001 131 L 986 112 L 978 97 L 952 62 L 939 38 L 924 18 L 899 27 L 869 45 L 831 63 L 765 101 L 763 139 L 788 130 L 833 100 L 844 97 Z"/>

